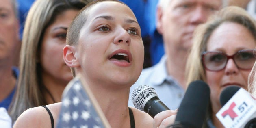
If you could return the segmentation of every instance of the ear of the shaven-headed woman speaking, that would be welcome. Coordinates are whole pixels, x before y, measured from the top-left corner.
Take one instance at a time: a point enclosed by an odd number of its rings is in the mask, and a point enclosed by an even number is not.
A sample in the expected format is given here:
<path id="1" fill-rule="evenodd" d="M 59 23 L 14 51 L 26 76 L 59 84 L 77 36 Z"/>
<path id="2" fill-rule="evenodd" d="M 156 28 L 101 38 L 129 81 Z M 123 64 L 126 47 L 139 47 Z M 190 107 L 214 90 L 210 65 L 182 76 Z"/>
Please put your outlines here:
<path id="1" fill-rule="evenodd" d="M 68 67 L 79 67 L 80 63 L 76 56 L 74 46 L 66 45 L 63 48 L 63 59 Z"/>

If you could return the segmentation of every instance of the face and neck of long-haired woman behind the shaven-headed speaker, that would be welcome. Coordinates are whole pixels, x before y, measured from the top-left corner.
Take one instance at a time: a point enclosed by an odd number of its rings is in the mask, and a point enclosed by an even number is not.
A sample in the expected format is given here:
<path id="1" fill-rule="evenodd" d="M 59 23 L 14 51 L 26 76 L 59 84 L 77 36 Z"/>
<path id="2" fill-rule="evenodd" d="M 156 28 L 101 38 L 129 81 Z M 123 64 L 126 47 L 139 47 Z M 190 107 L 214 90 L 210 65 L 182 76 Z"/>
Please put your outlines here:
<path id="1" fill-rule="evenodd" d="M 72 79 L 70 68 L 63 59 L 62 50 L 66 45 L 67 27 L 78 10 L 69 9 L 56 17 L 56 20 L 43 35 L 40 63 L 42 65 L 43 83 L 53 95 L 56 102 L 61 102 L 61 94 Z M 54 103 L 45 93 L 48 104 Z"/>

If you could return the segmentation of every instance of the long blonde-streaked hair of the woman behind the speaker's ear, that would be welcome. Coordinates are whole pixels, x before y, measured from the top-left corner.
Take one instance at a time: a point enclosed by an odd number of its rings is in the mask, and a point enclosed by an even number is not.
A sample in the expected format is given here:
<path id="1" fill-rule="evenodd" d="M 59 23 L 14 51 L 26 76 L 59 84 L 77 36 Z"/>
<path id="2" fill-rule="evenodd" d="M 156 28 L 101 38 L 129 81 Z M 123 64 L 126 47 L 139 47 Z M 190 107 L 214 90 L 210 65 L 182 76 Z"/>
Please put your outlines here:
<path id="1" fill-rule="evenodd" d="M 20 53 L 20 75 L 17 90 L 9 108 L 12 120 L 16 120 L 28 108 L 46 105 L 39 63 L 44 31 L 58 15 L 69 9 L 80 10 L 90 0 L 36 0 L 28 12 Z"/>

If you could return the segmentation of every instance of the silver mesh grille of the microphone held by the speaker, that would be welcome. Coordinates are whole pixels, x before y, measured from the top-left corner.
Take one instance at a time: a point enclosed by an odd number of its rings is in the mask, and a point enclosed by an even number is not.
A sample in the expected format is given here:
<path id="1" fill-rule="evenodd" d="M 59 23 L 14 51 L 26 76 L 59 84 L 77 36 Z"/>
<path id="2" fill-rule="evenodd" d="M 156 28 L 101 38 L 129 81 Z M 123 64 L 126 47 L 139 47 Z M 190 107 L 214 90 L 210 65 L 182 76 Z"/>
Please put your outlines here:
<path id="1" fill-rule="evenodd" d="M 148 85 L 138 86 L 132 92 L 132 103 L 135 106 L 135 108 L 143 111 L 145 105 L 144 101 L 147 98 L 152 98 L 152 96 L 157 96 L 156 90 L 154 88 Z"/>

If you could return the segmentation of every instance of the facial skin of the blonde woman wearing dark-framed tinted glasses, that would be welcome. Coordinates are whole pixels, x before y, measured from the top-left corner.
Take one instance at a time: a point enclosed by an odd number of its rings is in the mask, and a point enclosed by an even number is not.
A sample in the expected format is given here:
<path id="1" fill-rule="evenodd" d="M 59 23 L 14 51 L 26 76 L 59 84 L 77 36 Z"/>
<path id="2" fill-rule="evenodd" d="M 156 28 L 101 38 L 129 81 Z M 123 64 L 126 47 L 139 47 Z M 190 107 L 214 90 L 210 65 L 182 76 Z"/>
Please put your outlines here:
<path id="1" fill-rule="evenodd" d="M 207 51 L 221 51 L 227 55 L 233 55 L 239 50 L 253 49 L 255 46 L 256 41 L 247 28 L 237 23 L 225 22 L 213 31 L 208 40 Z M 238 85 L 247 89 L 250 71 L 238 69 L 232 59 L 228 60 L 226 67 L 221 71 L 206 70 L 207 83 L 211 90 L 212 119 L 217 128 L 223 127 L 215 117 L 215 114 L 221 108 L 219 102 L 221 91 L 228 85 Z"/>

